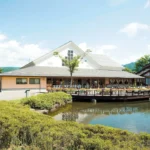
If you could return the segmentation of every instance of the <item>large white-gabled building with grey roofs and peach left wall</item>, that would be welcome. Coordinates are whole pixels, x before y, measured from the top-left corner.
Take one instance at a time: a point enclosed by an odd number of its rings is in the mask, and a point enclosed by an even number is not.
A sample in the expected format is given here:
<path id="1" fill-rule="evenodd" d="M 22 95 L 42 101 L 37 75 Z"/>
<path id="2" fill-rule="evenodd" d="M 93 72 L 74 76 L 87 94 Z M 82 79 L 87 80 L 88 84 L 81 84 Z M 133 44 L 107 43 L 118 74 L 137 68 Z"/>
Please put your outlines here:
<path id="1" fill-rule="evenodd" d="M 51 87 L 69 87 L 70 73 L 61 59 L 82 55 L 78 70 L 73 74 L 73 87 L 97 88 L 107 85 L 133 85 L 142 77 L 123 70 L 123 67 L 107 56 L 86 53 L 73 42 L 68 42 L 48 54 L 26 64 L 19 70 L 0 74 L 0 90 L 37 90 L 46 91 Z"/>

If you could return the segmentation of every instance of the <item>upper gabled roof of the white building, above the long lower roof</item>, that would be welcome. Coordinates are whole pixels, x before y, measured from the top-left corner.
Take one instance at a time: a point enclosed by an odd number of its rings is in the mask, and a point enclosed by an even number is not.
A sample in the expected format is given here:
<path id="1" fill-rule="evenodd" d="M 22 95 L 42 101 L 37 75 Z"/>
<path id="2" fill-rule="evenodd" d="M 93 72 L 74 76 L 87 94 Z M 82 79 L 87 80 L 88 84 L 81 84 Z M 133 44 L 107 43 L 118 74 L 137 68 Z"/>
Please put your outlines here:
<path id="1" fill-rule="evenodd" d="M 69 41 L 69 42 L 63 44 L 62 46 L 60 46 L 60 47 L 50 51 L 49 53 L 47 53 L 47 54 L 45 54 L 45 55 L 43 55 L 43 56 L 41 56 L 41 57 L 31 61 L 30 63 L 26 64 L 22 68 L 35 66 L 38 63 L 48 59 L 49 57 L 52 57 L 53 53 L 55 51 L 61 52 L 64 48 L 67 48 L 69 46 L 74 47 L 81 54 L 84 53 L 84 51 L 80 47 L 78 47 L 72 41 Z M 94 64 L 95 68 L 110 69 L 110 70 L 121 70 L 121 69 L 123 69 L 123 67 L 120 64 L 118 64 L 117 62 L 113 61 L 112 59 L 110 59 L 109 57 L 107 57 L 105 55 L 88 53 L 85 57 L 88 59 L 89 62 Z"/>

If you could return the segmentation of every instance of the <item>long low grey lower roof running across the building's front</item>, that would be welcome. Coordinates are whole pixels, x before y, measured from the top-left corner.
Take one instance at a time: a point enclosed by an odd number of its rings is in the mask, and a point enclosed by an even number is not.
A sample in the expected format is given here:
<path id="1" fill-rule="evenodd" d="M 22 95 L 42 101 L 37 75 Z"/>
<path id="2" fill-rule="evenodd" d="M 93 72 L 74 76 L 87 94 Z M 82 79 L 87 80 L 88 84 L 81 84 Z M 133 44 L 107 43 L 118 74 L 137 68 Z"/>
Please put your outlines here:
<path id="1" fill-rule="evenodd" d="M 0 76 L 43 76 L 70 77 L 68 68 L 64 67 L 27 67 L 0 74 Z M 106 78 L 143 78 L 141 76 L 120 70 L 78 69 L 74 77 L 106 77 Z"/>

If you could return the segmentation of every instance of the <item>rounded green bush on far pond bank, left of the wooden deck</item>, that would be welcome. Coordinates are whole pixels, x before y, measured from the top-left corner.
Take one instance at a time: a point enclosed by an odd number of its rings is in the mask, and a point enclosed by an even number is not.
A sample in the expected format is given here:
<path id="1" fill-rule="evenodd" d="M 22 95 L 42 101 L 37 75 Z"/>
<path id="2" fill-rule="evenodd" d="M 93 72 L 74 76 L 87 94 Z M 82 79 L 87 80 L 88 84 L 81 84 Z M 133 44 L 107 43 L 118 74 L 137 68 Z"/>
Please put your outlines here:
<path id="1" fill-rule="evenodd" d="M 55 104 L 64 105 L 67 101 L 71 100 L 72 97 L 69 94 L 64 92 L 54 92 L 23 98 L 21 103 L 35 109 L 50 110 Z"/>

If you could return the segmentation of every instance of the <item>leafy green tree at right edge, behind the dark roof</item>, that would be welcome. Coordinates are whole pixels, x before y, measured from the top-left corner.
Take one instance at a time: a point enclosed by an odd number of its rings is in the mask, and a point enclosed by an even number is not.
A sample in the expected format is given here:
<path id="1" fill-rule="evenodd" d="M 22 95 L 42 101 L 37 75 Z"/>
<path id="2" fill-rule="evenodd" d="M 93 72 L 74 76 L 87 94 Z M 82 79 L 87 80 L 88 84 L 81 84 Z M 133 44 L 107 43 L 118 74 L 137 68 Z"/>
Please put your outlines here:
<path id="1" fill-rule="evenodd" d="M 145 65 L 150 63 L 150 55 L 144 55 L 135 63 L 135 71 L 140 71 Z"/>

